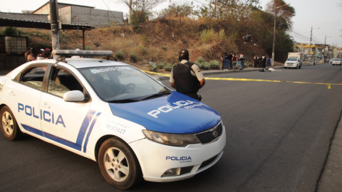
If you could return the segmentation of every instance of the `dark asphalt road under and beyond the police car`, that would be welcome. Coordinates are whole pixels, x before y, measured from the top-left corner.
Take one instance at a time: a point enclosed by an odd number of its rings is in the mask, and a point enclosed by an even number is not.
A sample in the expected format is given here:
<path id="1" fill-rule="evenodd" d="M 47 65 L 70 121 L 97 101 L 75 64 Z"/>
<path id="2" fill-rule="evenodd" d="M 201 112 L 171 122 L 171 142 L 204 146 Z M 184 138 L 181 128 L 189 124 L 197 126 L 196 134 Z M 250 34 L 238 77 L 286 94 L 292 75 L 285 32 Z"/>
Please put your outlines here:
<path id="1" fill-rule="evenodd" d="M 342 83 L 342 66 L 280 70 L 210 77 Z M 342 110 L 342 85 L 207 80 L 199 95 L 222 115 L 222 159 L 185 181 L 144 181 L 130 191 L 316 191 Z M 0 137 L 0 146 L 0 191 L 119 191 L 94 161 L 34 137 Z"/>

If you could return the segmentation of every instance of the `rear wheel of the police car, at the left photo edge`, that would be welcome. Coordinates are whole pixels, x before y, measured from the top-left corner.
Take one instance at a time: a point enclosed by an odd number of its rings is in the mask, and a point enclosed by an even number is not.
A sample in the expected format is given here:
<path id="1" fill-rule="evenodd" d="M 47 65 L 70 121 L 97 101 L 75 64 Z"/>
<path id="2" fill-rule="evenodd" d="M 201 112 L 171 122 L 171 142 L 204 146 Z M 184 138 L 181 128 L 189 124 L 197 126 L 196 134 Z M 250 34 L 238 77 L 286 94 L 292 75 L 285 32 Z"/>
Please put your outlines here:
<path id="1" fill-rule="evenodd" d="M 2 107 L 2 109 L 0 110 L 0 114 L 1 132 L 6 139 L 13 141 L 24 136 L 23 132 L 21 132 L 20 128 L 18 127 L 18 123 L 16 122 L 14 114 L 9 109 L 9 107 Z"/>

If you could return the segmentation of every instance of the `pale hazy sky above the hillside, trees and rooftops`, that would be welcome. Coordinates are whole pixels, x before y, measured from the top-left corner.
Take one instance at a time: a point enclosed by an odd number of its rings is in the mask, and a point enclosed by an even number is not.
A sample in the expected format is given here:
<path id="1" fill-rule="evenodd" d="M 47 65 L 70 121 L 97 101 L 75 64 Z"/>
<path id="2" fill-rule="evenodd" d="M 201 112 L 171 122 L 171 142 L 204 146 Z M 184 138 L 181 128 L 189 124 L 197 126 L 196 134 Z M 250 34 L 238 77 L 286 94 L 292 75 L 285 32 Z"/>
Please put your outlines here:
<path id="1" fill-rule="evenodd" d="M 125 4 L 120 0 L 58 0 L 61 3 L 94 6 L 96 9 L 108 8 L 111 11 L 128 13 Z M 195 5 L 206 4 L 208 0 L 173 0 L 177 4 L 193 1 Z M 270 0 L 260 0 L 261 6 L 266 7 Z M 326 44 L 342 47 L 342 0 L 284 0 L 294 7 L 296 16 L 292 18 L 293 26 L 289 34 L 299 43 L 310 43 L 311 27 L 313 44 Z M 21 13 L 21 10 L 36 10 L 48 0 L 0 0 L 0 11 Z M 153 11 L 167 7 L 169 1 L 157 6 Z"/>

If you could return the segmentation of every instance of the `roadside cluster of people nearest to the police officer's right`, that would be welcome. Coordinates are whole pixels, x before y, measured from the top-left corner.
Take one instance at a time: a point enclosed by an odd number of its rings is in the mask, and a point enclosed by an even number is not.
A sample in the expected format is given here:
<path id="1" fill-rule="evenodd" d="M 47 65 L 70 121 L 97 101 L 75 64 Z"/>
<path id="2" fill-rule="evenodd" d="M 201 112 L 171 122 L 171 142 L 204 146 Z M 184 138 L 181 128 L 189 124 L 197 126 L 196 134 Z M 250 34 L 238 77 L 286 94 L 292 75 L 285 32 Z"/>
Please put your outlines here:
<path id="1" fill-rule="evenodd" d="M 244 69 L 244 54 L 243 53 L 223 53 L 222 57 L 222 70 L 235 70 L 235 69 Z"/>

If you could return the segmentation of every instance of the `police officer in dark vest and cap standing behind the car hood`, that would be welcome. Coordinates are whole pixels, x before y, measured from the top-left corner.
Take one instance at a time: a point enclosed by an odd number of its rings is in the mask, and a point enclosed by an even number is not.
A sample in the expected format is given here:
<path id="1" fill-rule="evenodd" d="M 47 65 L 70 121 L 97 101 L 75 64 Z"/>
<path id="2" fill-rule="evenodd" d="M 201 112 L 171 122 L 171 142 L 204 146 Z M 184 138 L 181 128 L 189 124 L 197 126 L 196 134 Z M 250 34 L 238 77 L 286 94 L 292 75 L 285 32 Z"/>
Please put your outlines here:
<path id="1" fill-rule="evenodd" d="M 201 100 L 197 92 L 205 84 L 204 76 L 195 63 L 189 62 L 189 51 L 180 50 L 180 64 L 173 67 L 170 74 L 171 86 L 184 95 Z"/>

